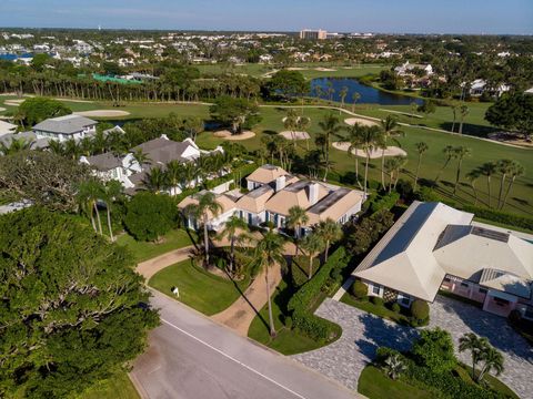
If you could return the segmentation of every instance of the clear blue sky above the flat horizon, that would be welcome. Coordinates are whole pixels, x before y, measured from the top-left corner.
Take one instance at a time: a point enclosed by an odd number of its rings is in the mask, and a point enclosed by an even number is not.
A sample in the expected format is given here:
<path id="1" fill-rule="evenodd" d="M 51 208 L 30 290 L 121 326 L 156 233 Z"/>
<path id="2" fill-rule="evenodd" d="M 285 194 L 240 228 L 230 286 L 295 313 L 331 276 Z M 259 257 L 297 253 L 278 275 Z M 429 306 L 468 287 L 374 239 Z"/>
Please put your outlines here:
<path id="1" fill-rule="evenodd" d="M 0 0 L 0 27 L 533 34 L 533 0 Z"/>

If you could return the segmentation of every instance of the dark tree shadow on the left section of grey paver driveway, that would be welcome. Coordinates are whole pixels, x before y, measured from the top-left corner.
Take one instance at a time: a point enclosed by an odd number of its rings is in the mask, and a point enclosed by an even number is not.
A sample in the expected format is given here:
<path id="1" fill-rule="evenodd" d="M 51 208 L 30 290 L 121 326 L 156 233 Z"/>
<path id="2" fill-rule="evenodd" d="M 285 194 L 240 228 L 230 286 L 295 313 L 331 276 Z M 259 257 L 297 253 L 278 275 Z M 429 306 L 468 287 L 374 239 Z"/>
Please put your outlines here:
<path id="1" fill-rule="evenodd" d="M 355 345 L 369 361 L 375 358 L 375 350 L 379 347 L 406 351 L 419 337 L 419 331 L 413 327 L 401 326 L 370 314 L 359 316 L 359 323 L 364 328 L 364 338 L 355 340 Z"/>

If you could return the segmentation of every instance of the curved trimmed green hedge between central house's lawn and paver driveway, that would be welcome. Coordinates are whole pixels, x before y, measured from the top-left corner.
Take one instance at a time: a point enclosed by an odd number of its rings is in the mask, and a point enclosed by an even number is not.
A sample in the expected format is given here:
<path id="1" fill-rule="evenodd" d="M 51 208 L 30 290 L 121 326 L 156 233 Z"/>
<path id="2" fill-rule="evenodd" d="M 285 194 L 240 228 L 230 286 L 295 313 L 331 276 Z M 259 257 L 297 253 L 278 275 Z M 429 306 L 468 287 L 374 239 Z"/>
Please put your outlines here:
<path id="1" fill-rule="evenodd" d="M 310 311 L 310 307 L 320 294 L 322 287 L 326 285 L 331 270 L 335 267 L 348 265 L 348 260 L 346 250 L 344 247 L 340 247 L 329 257 L 328 262 L 322 265 L 314 277 L 289 300 L 288 309 L 292 315 L 292 326 L 310 338 L 325 340 L 331 336 L 331 324 L 328 320 L 314 316 Z"/>

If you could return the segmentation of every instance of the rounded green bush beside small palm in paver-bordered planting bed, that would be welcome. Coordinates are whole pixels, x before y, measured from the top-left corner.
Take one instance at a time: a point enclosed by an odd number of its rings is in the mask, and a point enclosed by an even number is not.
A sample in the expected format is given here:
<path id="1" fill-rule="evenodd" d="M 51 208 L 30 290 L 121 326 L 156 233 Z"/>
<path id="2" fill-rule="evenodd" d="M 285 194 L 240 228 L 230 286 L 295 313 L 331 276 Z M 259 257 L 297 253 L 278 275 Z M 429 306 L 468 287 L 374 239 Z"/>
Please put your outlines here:
<path id="1" fill-rule="evenodd" d="M 434 372 L 450 371 L 457 364 L 452 336 L 440 328 L 420 331 L 420 338 L 414 341 L 411 351 L 422 366 Z"/>

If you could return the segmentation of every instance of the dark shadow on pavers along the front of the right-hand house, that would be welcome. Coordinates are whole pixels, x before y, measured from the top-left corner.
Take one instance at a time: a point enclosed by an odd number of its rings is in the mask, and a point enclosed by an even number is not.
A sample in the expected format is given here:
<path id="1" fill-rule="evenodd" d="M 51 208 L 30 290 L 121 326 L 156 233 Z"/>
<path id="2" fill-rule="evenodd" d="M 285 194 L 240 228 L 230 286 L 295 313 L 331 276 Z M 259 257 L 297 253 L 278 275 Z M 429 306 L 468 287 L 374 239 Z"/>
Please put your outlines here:
<path id="1" fill-rule="evenodd" d="M 450 321 L 450 319 L 456 316 L 472 330 L 472 332 L 489 338 L 491 345 L 496 349 L 533 364 L 533 347 L 531 347 L 524 338 L 507 325 L 504 317 L 490 314 L 473 305 L 453 298 L 438 296 L 435 303 L 436 301 L 436 306 L 442 306 L 447 314 L 451 314 L 442 316 L 446 318 L 446 321 Z M 430 317 L 432 317 L 432 315 L 434 315 L 433 309 L 430 311 Z M 435 318 L 432 318 L 432 320 L 433 323 L 436 321 Z M 443 324 L 445 325 L 446 321 Z M 460 332 L 462 335 L 469 331 L 465 329 Z M 452 332 L 452 335 L 454 334 Z"/>

